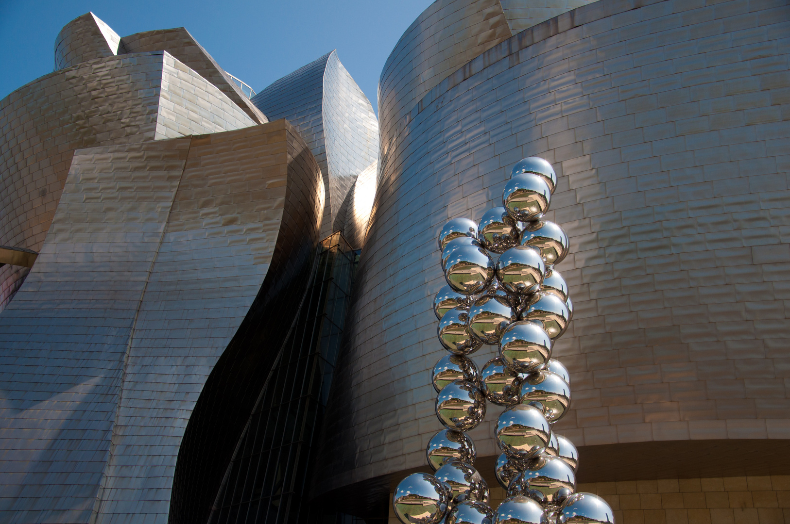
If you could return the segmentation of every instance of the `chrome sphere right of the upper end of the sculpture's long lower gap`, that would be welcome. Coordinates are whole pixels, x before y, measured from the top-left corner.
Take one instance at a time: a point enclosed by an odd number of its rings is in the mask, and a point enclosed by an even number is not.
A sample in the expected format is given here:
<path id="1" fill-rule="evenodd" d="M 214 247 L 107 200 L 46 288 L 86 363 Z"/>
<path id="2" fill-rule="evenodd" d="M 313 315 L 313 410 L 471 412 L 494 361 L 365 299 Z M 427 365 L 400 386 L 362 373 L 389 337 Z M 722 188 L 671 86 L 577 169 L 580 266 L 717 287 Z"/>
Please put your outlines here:
<path id="1" fill-rule="evenodd" d="M 546 449 L 551 427 L 536 407 L 516 404 L 499 415 L 495 436 L 499 449 L 514 460 L 523 461 Z"/>

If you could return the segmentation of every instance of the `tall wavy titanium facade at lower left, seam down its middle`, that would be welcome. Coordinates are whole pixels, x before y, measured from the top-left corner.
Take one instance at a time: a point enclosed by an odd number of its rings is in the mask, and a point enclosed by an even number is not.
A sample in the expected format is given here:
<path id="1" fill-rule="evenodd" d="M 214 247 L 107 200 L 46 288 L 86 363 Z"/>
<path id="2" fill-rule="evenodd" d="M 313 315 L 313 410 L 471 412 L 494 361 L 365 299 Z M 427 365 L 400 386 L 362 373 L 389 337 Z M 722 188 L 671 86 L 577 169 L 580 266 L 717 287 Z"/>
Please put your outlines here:
<path id="1" fill-rule="evenodd" d="M 322 195 L 284 121 L 74 156 L 0 314 L 4 522 L 167 522 L 205 380 L 273 287 L 303 294 Z"/>

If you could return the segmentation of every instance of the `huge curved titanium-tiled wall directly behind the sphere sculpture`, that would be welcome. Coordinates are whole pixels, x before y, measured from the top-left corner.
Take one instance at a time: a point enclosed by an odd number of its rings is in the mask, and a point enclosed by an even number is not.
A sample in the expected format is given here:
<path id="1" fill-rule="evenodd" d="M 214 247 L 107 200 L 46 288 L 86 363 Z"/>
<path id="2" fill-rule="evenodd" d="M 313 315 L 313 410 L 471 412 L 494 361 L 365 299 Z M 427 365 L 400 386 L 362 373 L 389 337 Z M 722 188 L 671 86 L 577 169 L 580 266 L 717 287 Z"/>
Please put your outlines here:
<path id="1" fill-rule="evenodd" d="M 382 107 L 389 151 L 319 491 L 423 467 L 440 429 L 438 230 L 498 205 L 529 155 L 558 171 L 547 218 L 571 240 L 559 270 L 574 322 L 555 355 L 572 374 L 574 410 L 557 429 L 582 447 L 582 480 L 667 471 L 624 459 L 597 468 L 593 451 L 606 445 L 645 464 L 662 447 L 723 443 L 692 457 L 687 476 L 721 476 L 747 457 L 753 470 L 783 467 L 787 454 L 771 450 L 790 439 L 788 17 L 769 0 L 600 0 L 473 59 L 397 131 Z M 494 352 L 474 357 L 480 366 Z M 471 433 L 479 456 L 497 453 L 498 411 Z M 662 462 L 676 469 L 688 456 Z"/>

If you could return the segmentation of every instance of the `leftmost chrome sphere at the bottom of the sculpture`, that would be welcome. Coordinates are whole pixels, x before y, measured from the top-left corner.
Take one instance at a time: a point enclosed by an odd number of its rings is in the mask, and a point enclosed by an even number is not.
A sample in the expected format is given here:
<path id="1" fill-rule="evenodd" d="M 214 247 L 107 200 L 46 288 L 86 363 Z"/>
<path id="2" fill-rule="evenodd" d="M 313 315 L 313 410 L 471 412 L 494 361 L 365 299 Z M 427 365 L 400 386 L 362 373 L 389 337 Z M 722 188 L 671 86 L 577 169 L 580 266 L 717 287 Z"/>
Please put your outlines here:
<path id="1" fill-rule="evenodd" d="M 403 524 L 438 524 L 450 503 L 450 490 L 428 473 L 412 473 L 395 488 L 393 510 Z"/>

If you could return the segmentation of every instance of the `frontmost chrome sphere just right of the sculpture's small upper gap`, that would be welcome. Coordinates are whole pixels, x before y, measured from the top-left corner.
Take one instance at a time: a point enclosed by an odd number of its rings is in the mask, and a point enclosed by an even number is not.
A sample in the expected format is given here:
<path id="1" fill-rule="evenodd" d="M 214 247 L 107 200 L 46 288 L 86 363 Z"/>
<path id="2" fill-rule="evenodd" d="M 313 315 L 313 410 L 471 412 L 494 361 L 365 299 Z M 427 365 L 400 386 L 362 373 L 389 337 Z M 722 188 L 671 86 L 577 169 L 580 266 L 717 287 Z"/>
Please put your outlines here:
<path id="1" fill-rule="evenodd" d="M 499 356 L 510 369 L 530 372 L 551 357 L 551 337 L 542 324 L 520 320 L 513 322 L 499 339 Z"/>

